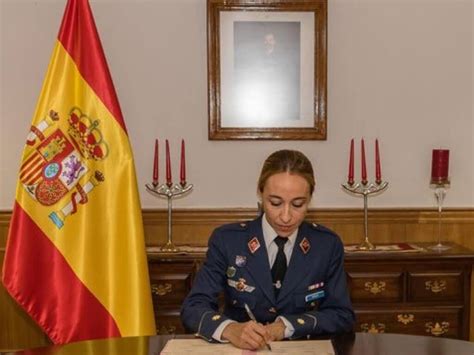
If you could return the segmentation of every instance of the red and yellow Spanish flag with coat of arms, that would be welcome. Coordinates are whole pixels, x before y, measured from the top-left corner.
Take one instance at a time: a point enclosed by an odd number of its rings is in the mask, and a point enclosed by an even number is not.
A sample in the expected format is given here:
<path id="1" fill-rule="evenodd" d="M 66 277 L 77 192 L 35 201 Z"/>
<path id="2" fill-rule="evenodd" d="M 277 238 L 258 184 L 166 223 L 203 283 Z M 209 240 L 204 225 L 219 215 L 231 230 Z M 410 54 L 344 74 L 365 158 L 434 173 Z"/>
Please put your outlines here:
<path id="1" fill-rule="evenodd" d="M 133 156 L 87 0 L 66 6 L 2 279 L 56 344 L 155 334 Z"/>

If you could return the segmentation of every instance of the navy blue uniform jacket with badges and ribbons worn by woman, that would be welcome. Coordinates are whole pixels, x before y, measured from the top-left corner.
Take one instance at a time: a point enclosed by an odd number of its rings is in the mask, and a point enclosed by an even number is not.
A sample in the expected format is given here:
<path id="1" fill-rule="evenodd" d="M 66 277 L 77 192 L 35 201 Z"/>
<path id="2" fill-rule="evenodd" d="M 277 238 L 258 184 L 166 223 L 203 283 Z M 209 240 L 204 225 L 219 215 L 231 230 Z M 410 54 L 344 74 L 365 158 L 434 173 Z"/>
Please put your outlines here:
<path id="1" fill-rule="evenodd" d="M 213 232 L 207 259 L 181 310 L 186 329 L 213 341 L 212 334 L 224 320 L 249 320 L 247 303 L 262 324 L 284 316 L 295 329 L 293 338 L 352 330 L 355 316 L 339 237 L 303 222 L 275 298 L 261 218 L 224 225 Z M 221 291 L 225 295 L 222 312 L 217 303 Z"/>

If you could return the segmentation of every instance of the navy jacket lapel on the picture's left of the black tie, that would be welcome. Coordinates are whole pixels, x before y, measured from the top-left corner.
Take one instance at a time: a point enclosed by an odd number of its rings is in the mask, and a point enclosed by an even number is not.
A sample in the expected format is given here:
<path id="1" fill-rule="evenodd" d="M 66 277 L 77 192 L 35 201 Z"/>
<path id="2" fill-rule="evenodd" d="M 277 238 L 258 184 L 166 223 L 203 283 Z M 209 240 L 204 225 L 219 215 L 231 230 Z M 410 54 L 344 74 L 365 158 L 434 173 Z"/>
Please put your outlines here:
<path id="1" fill-rule="evenodd" d="M 272 275 L 268 262 L 267 247 L 265 246 L 265 240 L 263 238 L 262 217 L 250 222 L 248 231 L 249 235 L 246 246 L 248 256 L 246 268 L 258 286 L 262 289 L 262 292 L 265 294 L 265 296 L 272 304 L 275 304 L 275 293 L 273 291 Z M 255 237 L 258 239 L 260 247 L 258 250 L 252 253 L 248 247 L 248 242 L 250 242 Z"/>

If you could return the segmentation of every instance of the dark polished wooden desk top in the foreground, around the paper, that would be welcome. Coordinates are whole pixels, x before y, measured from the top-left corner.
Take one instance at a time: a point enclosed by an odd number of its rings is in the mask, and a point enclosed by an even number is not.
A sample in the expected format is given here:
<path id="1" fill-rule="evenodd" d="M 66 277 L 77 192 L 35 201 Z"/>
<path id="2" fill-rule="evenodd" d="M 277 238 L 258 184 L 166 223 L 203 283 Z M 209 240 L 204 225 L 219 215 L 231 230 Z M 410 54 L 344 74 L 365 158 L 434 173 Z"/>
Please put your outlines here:
<path id="1" fill-rule="evenodd" d="M 192 336 L 157 335 L 153 337 L 93 340 L 8 353 L 8 355 L 159 354 L 166 342 L 174 337 L 190 338 Z M 474 343 L 471 342 L 415 335 L 351 333 L 334 336 L 331 340 L 337 355 L 474 354 Z"/>

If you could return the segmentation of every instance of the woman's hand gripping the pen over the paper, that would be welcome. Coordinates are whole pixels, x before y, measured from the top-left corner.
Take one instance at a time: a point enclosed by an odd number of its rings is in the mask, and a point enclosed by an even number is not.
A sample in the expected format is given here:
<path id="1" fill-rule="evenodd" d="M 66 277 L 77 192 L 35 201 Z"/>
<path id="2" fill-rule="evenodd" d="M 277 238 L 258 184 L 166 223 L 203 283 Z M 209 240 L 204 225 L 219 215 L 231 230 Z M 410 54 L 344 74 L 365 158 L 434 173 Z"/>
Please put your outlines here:
<path id="1" fill-rule="evenodd" d="M 230 323 L 222 332 L 222 339 L 230 341 L 240 349 L 256 350 L 271 341 L 270 333 L 260 323 Z"/>

